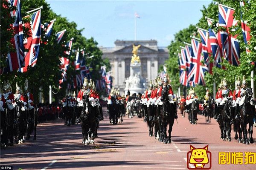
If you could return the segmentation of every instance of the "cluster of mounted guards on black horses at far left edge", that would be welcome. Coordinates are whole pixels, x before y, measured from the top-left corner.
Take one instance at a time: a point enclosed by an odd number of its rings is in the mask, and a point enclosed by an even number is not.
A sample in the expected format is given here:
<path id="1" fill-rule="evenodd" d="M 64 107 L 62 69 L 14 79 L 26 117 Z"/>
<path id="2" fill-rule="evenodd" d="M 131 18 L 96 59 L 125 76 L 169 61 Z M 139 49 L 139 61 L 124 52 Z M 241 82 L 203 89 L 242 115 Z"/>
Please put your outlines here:
<path id="1" fill-rule="evenodd" d="M 29 92 L 27 80 L 24 89 L 25 92 L 16 83 L 16 92 L 13 94 L 9 81 L 3 82 L 3 93 L 0 94 L 1 147 L 12 146 L 14 143 L 22 144 L 26 131 L 26 140 L 32 133 L 31 129 L 26 128 L 32 127 L 35 121 L 34 97 Z"/>

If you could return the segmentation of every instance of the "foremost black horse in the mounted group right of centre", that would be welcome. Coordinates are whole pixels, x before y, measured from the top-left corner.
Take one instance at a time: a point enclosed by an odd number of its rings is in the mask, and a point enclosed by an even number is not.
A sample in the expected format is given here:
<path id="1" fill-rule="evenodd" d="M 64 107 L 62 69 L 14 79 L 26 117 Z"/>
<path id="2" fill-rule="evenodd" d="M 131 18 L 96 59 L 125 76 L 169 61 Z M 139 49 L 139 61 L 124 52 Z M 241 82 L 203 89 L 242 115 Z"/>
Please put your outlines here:
<path id="1" fill-rule="evenodd" d="M 174 119 L 175 119 L 175 111 L 176 109 L 174 108 L 174 104 L 170 104 L 169 102 L 169 93 L 168 89 L 163 88 L 162 93 L 161 93 L 161 101 L 163 102 L 163 106 L 161 107 L 160 115 L 161 115 L 161 123 L 163 127 L 163 143 L 171 143 L 171 133 L 172 133 L 172 126 L 174 124 Z M 169 136 L 167 139 L 167 125 L 169 124 Z"/>

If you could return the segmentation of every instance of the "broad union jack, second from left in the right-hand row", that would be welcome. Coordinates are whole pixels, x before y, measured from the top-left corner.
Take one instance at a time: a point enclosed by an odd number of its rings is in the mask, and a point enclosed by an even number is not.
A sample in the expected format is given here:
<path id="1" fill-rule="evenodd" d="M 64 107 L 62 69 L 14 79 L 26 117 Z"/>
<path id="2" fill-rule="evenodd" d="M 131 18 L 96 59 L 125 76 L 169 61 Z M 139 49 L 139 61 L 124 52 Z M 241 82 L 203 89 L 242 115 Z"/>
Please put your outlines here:
<path id="1" fill-rule="evenodd" d="M 208 71 L 206 64 L 202 64 L 201 61 L 204 60 L 204 56 L 201 55 L 202 43 L 198 40 L 192 38 L 191 40 L 192 52 L 191 52 L 191 64 L 189 69 L 189 81 L 193 81 L 195 84 L 205 85 L 204 82 L 204 72 Z"/>

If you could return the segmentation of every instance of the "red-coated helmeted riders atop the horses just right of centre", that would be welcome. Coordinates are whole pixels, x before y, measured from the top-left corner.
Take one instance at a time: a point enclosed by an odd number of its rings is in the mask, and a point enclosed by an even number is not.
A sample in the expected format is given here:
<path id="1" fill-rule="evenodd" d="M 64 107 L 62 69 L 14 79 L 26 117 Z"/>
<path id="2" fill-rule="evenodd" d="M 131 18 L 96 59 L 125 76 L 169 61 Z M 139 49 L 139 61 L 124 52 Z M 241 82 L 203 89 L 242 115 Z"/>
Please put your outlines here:
<path id="1" fill-rule="evenodd" d="M 150 80 L 148 89 L 142 95 L 143 104 L 147 105 L 147 107 L 149 107 L 149 105 L 162 106 L 163 101 L 161 101 L 161 97 L 163 89 L 168 91 L 168 99 L 166 98 L 166 100 L 169 101 L 171 104 L 174 104 L 176 108 L 176 102 L 174 101 L 172 86 L 169 84 L 168 73 L 166 73 L 166 76 L 163 78 L 163 80 L 160 77 L 155 79 L 154 84 L 152 83 L 152 80 Z M 158 107 L 158 109 L 160 109 L 160 107 Z M 160 110 L 158 110 L 158 112 L 159 111 Z M 178 118 L 177 112 L 175 112 L 175 118 Z"/>

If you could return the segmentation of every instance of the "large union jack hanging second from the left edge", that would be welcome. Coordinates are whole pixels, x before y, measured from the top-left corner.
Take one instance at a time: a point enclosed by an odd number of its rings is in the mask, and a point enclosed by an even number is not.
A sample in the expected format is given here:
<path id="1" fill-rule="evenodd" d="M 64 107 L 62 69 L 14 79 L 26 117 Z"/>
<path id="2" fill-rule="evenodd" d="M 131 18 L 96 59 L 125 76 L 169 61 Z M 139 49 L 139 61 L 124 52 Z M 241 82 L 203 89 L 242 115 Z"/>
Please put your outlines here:
<path id="1" fill-rule="evenodd" d="M 34 12 L 31 18 L 31 25 L 26 23 L 26 27 L 29 28 L 29 33 L 31 35 L 27 38 L 27 43 L 25 44 L 25 48 L 28 49 L 29 52 L 25 52 L 25 67 L 21 68 L 19 70 L 20 72 L 27 72 L 28 66 L 35 66 L 38 59 L 41 37 L 41 9 Z"/>

